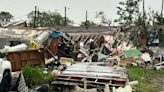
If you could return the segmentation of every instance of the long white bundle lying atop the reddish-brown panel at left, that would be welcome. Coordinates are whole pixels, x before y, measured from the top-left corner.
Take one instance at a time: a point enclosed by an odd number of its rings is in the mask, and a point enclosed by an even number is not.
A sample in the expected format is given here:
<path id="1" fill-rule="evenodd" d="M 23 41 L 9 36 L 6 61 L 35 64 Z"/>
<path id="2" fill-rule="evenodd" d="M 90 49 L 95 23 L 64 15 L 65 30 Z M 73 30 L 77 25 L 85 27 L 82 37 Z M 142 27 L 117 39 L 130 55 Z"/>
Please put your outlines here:
<path id="1" fill-rule="evenodd" d="M 5 52 L 15 52 L 15 51 L 24 51 L 27 49 L 27 45 L 26 44 L 19 44 L 19 45 L 16 45 L 16 46 L 5 46 L 4 49 L 2 49 L 2 53 L 5 53 Z"/>

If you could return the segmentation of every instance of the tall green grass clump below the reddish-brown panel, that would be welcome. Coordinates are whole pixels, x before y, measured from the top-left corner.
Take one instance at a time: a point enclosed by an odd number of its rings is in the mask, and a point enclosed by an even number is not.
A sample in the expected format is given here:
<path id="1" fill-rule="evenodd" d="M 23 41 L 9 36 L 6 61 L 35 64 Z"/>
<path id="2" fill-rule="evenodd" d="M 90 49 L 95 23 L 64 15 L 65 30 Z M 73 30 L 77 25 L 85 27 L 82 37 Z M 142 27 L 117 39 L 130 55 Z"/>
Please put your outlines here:
<path id="1" fill-rule="evenodd" d="M 42 67 L 33 67 L 31 65 L 24 67 L 23 75 L 25 76 L 26 83 L 29 87 L 48 84 L 54 78 L 51 74 L 44 74 Z"/>

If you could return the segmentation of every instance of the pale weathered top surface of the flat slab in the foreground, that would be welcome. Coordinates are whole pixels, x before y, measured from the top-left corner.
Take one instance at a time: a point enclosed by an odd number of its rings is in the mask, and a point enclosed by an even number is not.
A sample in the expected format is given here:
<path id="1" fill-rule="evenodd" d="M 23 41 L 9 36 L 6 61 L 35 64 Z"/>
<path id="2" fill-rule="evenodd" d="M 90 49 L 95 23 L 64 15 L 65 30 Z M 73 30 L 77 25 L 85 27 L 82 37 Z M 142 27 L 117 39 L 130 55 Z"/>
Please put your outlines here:
<path id="1" fill-rule="evenodd" d="M 77 63 L 63 71 L 63 75 L 85 75 L 95 77 L 125 77 L 126 69 L 121 67 L 110 67 L 102 63 Z"/>

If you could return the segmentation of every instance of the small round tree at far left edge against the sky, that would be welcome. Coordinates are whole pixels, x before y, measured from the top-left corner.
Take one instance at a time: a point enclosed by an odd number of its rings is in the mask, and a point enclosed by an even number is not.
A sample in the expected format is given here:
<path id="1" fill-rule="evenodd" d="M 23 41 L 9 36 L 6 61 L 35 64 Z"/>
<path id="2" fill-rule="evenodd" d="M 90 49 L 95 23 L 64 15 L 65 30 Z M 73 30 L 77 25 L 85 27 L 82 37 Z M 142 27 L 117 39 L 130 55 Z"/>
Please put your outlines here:
<path id="1" fill-rule="evenodd" d="M 1 11 L 0 12 L 0 25 L 4 26 L 5 24 L 9 23 L 12 18 L 13 18 L 13 15 L 11 15 L 9 12 Z"/>

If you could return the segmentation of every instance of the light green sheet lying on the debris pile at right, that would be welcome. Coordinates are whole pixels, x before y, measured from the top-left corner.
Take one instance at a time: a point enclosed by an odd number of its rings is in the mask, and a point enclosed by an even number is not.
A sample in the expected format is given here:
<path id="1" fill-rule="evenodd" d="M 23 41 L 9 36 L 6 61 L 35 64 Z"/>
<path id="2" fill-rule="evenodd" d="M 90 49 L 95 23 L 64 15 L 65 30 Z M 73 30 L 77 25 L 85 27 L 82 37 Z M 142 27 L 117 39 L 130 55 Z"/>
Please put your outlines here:
<path id="1" fill-rule="evenodd" d="M 134 49 L 134 50 L 126 50 L 124 52 L 124 56 L 125 58 L 138 58 L 139 55 L 141 55 L 142 53 L 140 51 L 138 51 L 137 49 Z"/>

